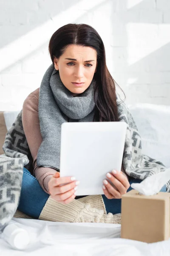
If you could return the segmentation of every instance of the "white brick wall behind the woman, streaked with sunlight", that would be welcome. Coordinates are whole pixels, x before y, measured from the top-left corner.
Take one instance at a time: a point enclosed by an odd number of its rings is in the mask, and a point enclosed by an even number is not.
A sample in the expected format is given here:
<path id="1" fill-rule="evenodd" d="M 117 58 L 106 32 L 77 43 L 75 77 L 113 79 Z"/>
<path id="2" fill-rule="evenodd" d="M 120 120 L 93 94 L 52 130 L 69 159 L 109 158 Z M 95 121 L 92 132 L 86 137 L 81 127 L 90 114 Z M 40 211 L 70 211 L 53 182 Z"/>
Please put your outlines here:
<path id="1" fill-rule="evenodd" d="M 0 0 L 0 111 L 22 108 L 51 64 L 51 35 L 73 22 L 101 35 L 127 104 L 170 105 L 170 0 Z"/>

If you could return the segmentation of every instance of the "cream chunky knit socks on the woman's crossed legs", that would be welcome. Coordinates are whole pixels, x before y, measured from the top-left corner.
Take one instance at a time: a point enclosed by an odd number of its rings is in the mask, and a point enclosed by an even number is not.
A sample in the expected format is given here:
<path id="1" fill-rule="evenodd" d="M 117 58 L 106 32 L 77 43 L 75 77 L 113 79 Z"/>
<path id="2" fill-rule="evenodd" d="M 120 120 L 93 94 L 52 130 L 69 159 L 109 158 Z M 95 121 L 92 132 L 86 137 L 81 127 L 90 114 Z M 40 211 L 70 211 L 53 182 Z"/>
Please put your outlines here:
<path id="1" fill-rule="evenodd" d="M 17 210 L 15 218 L 31 218 Z M 121 214 L 106 213 L 101 195 L 88 195 L 60 204 L 49 196 L 39 217 L 40 220 L 57 222 L 95 222 L 121 224 Z"/>

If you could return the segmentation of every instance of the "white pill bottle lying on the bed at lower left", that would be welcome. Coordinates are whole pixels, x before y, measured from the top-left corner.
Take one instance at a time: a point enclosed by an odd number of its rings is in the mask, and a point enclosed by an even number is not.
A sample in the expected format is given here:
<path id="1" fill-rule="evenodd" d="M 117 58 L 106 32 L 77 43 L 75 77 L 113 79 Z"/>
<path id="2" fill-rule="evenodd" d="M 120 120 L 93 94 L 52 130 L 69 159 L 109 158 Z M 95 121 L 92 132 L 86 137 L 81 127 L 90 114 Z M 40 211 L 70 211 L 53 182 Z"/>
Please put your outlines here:
<path id="1" fill-rule="evenodd" d="M 13 220 L 3 229 L 2 237 L 17 250 L 24 250 L 30 242 L 27 230 Z"/>

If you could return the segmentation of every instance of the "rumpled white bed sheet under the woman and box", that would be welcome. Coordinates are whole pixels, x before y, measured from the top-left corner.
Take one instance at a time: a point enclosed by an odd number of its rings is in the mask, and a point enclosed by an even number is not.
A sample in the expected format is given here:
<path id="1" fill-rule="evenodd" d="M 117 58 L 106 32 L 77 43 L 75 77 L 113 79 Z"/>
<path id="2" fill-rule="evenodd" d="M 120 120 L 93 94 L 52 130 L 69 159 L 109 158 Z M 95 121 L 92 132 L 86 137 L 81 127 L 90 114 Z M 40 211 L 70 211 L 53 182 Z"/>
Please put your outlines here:
<path id="1" fill-rule="evenodd" d="M 13 218 L 29 233 L 31 242 L 14 250 L 0 236 L 0 256 L 169 256 L 170 239 L 147 244 L 120 238 L 121 225 L 62 223 Z"/>

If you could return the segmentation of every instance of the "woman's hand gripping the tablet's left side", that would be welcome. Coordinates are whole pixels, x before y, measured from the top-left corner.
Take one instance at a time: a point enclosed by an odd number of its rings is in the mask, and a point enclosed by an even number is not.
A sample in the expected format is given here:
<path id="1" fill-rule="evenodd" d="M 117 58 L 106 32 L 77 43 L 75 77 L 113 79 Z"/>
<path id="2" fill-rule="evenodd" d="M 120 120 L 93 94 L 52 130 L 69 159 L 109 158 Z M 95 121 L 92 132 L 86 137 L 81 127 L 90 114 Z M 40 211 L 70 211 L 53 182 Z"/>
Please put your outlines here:
<path id="1" fill-rule="evenodd" d="M 68 183 L 66 185 L 63 185 Z M 79 181 L 75 177 L 59 177 L 56 172 L 48 182 L 48 192 L 55 201 L 68 204 L 76 197 Z"/>

